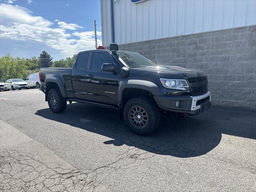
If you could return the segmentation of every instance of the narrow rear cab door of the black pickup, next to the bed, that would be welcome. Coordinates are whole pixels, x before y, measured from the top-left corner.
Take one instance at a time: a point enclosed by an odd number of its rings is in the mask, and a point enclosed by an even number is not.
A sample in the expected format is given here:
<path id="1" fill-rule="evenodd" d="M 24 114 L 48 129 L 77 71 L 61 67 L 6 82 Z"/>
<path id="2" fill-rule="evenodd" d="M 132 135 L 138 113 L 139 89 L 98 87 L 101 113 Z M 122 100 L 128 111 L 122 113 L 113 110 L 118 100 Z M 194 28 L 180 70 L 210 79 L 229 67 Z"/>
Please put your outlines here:
<path id="1" fill-rule="evenodd" d="M 75 98 L 86 99 L 86 83 L 85 83 L 85 71 L 87 68 L 88 58 L 90 52 L 80 52 L 76 58 L 76 62 L 73 65 L 71 77 L 72 86 Z"/>

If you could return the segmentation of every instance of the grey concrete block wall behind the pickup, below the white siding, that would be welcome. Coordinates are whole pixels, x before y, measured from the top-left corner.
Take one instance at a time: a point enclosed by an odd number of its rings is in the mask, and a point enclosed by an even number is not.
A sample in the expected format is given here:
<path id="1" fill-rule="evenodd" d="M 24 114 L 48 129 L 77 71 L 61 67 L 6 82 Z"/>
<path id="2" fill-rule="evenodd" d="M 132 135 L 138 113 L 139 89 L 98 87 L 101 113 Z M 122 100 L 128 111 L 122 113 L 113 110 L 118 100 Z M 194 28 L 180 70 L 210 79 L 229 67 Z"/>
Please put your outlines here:
<path id="1" fill-rule="evenodd" d="M 119 50 L 203 70 L 214 105 L 256 109 L 256 26 L 122 44 Z"/>

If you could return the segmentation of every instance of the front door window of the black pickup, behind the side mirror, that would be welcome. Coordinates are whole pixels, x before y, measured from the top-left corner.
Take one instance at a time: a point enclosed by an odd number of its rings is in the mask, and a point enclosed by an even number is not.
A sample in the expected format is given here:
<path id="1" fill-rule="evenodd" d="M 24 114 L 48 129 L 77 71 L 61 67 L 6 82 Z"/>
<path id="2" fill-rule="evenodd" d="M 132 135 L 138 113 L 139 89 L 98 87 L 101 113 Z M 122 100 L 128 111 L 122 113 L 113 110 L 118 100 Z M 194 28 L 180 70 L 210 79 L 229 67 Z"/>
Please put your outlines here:
<path id="1" fill-rule="evenodd" d="M 104 53 L 94 53 L 92 55 L 92 63 L 91 70 L 101 71 L 101 66 L 103 63 L 112 63 L 114 64 L 114 60 Z"/>

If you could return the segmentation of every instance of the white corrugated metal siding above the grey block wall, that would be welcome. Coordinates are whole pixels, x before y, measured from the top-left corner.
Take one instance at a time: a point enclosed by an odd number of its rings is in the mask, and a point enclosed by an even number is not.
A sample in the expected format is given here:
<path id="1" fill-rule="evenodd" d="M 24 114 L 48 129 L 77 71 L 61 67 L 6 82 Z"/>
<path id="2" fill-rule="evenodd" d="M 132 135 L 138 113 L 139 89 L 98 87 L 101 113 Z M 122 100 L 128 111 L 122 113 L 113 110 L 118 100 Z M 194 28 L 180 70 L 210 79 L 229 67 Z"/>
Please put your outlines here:
<path id="1" fill-rule="evenodd" d="M 111 42 L 110 0 L 101 0 L 102 43 Z M 256 24 L 256 0 L 115 0 L 118 44 Z"/>

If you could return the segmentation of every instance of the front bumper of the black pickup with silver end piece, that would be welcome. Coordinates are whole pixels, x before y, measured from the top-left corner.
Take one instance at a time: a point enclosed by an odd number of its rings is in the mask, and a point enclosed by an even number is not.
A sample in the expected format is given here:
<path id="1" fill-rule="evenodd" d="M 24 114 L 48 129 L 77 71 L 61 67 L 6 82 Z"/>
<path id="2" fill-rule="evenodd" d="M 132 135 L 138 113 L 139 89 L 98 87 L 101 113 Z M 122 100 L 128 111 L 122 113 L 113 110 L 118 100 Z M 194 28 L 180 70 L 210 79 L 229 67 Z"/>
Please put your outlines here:
<path id="1" fill-rule="evenodd" d="M 197 115 L 210 108 L 211 92 L 199 96 L 154 96 L 158 106 L 164 110 Z"/>

